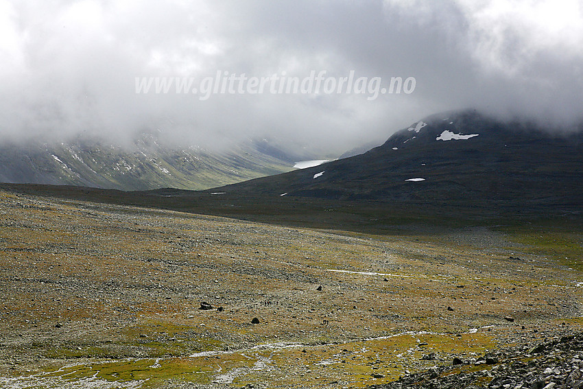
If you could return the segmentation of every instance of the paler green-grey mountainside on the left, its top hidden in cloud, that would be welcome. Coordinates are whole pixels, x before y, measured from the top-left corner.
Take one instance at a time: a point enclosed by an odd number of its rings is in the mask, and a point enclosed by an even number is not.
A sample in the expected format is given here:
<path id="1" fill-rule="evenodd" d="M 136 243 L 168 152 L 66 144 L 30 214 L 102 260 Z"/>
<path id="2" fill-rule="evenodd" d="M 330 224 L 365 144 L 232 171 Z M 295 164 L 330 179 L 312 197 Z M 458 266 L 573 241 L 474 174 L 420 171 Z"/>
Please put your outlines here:
<path id="1" fill-rule="evenodd" d="M 222 152 L 164 145 L 156 133 L 121 147 L 95 139 L 69 143 L 3 143 L 0 182 L 77 185 L 121 190 L 206 189 L 288 172 L 294 156 L 267 141 Z"/>

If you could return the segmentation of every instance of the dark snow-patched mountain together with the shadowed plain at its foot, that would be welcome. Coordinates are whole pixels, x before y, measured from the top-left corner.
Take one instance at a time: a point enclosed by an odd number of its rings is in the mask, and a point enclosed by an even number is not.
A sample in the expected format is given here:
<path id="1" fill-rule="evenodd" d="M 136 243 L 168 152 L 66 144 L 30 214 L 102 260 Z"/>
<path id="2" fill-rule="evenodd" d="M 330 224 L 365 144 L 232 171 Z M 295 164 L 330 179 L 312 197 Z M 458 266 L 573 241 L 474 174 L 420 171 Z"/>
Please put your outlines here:
<path id="1" fill-rule="evenodd" d="M 365 154 L 206 191 L 0 187 L 345 231 L 539 222 L 570 230 L 583 217 L 582 167 L 580 132 L 549 134 L 466 111 L 428 117 Z"/>

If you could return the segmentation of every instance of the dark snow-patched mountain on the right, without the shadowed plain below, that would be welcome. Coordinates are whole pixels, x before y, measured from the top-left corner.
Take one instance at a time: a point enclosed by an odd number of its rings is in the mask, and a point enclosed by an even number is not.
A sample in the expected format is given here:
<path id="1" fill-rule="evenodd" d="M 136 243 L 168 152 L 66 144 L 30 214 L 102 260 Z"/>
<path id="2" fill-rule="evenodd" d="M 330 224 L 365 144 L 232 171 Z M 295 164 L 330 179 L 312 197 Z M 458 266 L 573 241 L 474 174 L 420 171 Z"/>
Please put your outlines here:
<path id="1" fill-rule="evenodd" d="M 545 132 L 473 110 L 444 113 L 413 123 L 365 154 L 220 190 L 578 213 L 582 134 Z"/>

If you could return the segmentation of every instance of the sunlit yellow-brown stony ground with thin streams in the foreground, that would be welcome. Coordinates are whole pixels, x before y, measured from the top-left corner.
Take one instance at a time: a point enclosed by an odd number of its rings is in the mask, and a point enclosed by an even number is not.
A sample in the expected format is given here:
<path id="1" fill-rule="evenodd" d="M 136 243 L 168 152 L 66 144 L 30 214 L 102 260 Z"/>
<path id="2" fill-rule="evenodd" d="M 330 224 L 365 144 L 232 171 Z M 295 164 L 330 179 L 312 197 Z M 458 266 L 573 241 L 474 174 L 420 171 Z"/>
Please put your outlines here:
<path id="1" fill-rule="evenodd" d="M 503 362 L 476 362 L 583 325 L 582 274 L 565 262 L 581 237 L 533 239 L 317 231 L 0 191 L 0 387 L 366 388 L 431 383 L 415 375 L 431 368 L 419 374 L 514 388 L 526 381 Z M 562 351 L 546 351 L 512 366 L 563 375 L 545 359 Z M 453 357 L 459 371 L 433 367 Z M 478 377 L 486 365 L 492 377 Z"/>

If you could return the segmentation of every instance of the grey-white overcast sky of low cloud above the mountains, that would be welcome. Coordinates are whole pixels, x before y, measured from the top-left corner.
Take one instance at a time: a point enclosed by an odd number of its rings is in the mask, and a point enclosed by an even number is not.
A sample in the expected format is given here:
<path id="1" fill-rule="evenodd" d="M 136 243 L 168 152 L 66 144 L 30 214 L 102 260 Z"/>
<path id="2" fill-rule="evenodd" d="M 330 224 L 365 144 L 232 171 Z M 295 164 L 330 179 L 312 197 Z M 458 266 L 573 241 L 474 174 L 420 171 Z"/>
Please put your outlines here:
<path id="1" fill-rule="evenodd" d="M 583 113 L 583 1 L 0 0 L 0 58 L 3 136 L 159 128 L 185 144 L 260 137 L 341 152 L 457 108 L 571 126 Z M 416 83 L 377 98 L 136 93 L 136 78 L 200 89 L 217 71 Z"/>

